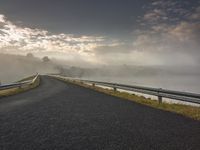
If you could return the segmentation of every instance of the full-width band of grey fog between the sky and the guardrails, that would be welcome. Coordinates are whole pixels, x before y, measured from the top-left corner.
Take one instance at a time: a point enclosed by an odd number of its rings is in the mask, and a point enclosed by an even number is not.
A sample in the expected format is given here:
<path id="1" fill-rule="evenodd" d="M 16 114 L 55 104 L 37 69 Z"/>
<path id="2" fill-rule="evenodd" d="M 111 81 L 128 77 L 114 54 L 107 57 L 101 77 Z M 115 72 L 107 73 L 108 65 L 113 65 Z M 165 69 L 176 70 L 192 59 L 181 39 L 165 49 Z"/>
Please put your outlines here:
<path id="1" fill-rule="evenodd" d="M 36 73 L 61 74 L 81 79 L 200 93 L 200 67 L 198 65 L 95 66 L 86 62 L 82 62 L 81 65 L 75 64 L 75 60 L 64 61 L 50 58 L 50 61 L 44 62 L 42 58 L 35 56 L 0 54 L 0 80 L 1 83 L 10 83 Z"/>

